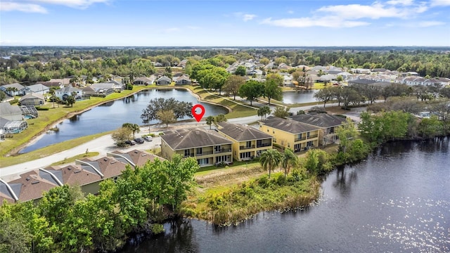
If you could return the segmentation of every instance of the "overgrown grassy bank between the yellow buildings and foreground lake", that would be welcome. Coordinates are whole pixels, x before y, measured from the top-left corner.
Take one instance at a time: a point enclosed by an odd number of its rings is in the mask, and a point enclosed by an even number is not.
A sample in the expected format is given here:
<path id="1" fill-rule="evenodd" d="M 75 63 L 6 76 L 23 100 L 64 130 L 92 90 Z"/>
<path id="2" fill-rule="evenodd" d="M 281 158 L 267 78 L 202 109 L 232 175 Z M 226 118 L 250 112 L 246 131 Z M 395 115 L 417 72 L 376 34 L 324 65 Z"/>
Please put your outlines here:
<path id="1" fill-rule="evenodd" d="M 315 176 L 296 171 L 285 179 L 283 173 L 271 179 L 259 164 L 196 175 L 198 188 L 181 209 L 192 218 L 229 225 L 268 210 L 306 207 L 319 197 Z"/>

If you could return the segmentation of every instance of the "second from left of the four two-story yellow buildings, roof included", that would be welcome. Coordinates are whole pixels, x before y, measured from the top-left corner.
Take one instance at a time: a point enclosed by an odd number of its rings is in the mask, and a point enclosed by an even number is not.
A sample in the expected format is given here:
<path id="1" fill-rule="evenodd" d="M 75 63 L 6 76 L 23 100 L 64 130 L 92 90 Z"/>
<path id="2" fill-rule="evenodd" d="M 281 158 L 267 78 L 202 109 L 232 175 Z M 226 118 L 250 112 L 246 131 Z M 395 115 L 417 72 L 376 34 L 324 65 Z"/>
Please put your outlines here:
<path id="1" fill-rule="evenodd" d="M 272 148 L 273 137 L 252 126 L 221 122 L 218 131 L 233 141 L 233 158 L 237 161 L 251 160 Z"/>

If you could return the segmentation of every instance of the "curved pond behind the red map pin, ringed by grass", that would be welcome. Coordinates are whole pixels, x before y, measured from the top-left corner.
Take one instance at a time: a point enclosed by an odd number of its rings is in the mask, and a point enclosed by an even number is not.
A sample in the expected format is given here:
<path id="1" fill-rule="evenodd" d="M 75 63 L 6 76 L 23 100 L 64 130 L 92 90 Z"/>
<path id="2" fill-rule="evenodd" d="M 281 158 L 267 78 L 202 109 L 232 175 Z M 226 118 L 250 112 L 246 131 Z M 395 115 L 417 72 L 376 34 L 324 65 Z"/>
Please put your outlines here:
<path id="1" fill-rule="evenodd" d="M 199 103 L 189 91 L 184 89 L 151 89 L 140 91 L 139 93 L 98 105 L 70 119 L 65 119 L 58 126 L 59 131 L 44 134 L 38 141 L 27 146 L 20 153 L 27 153 L 39 148 L 44 148 L 53 143 L 68 141 L 91 134 L 98 134 L 119 128 L 123 123 L 143 124 L 141 119 L 142 110 L 148 105 L 148 101 L 153 98 L 175 98 L 179 101 Z M 228 110 L 218 105 L 200 102 L 205 107 L 205 115 L 226 114 Z M 190 119 L 190 118 L 188 118 Z M 158 120 L 151 121 L 150 124 L 158 123 Z"/>

